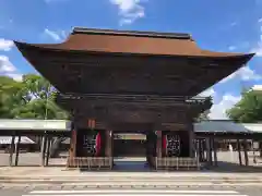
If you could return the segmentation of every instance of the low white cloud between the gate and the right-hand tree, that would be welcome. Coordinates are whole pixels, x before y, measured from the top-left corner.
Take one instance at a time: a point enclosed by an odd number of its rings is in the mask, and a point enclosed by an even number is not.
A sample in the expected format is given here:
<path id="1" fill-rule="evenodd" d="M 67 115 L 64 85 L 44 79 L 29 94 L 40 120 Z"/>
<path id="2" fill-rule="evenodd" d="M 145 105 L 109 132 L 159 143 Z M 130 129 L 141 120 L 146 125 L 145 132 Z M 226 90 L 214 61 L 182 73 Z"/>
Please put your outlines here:
<path id="1" fill-rule="evenodd" d="M 240 96 L 233 96 L 226 94 L 222 97 L 222 100 L 218 103 L 212 106 L 209 117 L 213 120 L 226 120 L 226 111 L 233 108 L 238 101 L 240 101 Z"/>

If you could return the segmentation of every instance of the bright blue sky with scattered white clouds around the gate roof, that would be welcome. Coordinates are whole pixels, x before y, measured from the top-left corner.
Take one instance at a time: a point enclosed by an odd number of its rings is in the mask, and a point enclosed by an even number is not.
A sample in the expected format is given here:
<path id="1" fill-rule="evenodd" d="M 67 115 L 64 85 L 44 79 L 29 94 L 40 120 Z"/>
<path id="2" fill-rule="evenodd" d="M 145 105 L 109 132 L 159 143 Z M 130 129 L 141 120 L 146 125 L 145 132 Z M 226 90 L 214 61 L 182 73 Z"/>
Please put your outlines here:
<path id="1" fill-rule="evenodd" d="M 248 66 L 203 93 L 213 119 L 262 85 L 262 0 L 0 0 L 0 74 L 35 70 L 12 40 L 61 42 L 73 26 L 189 33 L 204 49 L 257 52 Z"/>

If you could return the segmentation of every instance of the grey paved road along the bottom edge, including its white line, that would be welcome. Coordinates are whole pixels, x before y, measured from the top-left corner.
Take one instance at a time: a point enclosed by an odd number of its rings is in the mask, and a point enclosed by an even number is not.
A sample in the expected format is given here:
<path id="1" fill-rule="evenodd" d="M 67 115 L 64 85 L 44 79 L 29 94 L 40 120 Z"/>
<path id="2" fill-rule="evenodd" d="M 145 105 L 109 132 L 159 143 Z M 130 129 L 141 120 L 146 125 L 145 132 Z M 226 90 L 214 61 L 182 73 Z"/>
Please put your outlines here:
<path id="1" fill-rule="evenodd" d="M 261 196 L 262 187 L 177 187 L 177 188 L 80 188 L 80 187 L 46 187 L 33 189 L 1 189 L 0 196 L 103 196 L 103 195 L 145 195 L 145 196 Z"/>

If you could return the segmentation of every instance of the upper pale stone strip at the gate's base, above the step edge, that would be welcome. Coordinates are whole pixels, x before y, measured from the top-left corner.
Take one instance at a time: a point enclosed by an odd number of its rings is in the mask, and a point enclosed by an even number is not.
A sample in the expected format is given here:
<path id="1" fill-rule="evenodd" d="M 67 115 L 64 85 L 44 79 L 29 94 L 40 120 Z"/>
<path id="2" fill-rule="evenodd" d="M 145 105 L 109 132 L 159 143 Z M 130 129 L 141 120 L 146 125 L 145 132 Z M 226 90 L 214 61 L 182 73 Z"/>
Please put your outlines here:
<path id="1" fill-rule="evenodd" d="M 0 179 L 4 177 L 92 177 L 92 176 L 198 176 L 198 177 L 262 177 L 262 172 L 216 172 L 203 171 L 81 171 L 64 167 L 0 167 Z"/>

